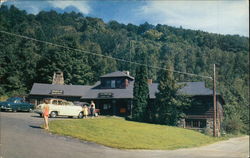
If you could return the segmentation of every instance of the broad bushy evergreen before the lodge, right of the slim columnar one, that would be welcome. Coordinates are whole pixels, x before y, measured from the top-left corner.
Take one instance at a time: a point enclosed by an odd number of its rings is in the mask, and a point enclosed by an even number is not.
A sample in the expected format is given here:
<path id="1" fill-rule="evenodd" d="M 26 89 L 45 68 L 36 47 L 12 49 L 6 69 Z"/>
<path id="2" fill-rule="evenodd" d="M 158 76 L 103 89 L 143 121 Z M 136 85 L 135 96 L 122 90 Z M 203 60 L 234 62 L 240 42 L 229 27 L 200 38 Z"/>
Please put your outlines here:
<path id="1" fill-rule="evenodd" d="M 170 63 L 168 70 L 173 70 Z M 179 119 L 184 116 L 183 109 L 187 106 L 186 98 L 178 94 L 180 86 L 175 84 L 173 72 L 162 71 L 159 76 L 159 92 L 156 93 L 155 121 L 159 124 L 177 125 Z"/>

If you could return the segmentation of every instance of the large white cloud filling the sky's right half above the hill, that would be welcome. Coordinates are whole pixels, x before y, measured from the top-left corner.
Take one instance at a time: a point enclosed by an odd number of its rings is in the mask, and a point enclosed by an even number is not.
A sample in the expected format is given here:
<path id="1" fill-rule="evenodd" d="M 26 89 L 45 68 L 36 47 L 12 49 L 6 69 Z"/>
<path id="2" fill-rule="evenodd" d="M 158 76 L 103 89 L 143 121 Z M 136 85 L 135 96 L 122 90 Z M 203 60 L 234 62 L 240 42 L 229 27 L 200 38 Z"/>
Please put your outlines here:
<path id="1" fill-rule="evenodd" d="M 135 12 L 152 24 L 249 36 L 248 8 L 249 2 L 245 0 L 150 1 Z"/>

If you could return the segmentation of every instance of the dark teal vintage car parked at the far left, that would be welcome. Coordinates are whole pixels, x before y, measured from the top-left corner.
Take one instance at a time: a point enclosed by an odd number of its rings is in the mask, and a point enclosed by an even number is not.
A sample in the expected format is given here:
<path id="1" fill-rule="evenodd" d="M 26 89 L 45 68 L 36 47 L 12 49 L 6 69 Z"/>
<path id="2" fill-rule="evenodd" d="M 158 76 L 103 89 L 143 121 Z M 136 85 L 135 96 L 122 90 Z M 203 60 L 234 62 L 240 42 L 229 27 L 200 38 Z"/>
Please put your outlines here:
<path id="1" fill-rule="evenodd" d="M 25 102 L 24 98 L 21 97 L 11 97 L 5 102 L 0 102 L 1 111 L 32 111 L 34 105 Z"/>

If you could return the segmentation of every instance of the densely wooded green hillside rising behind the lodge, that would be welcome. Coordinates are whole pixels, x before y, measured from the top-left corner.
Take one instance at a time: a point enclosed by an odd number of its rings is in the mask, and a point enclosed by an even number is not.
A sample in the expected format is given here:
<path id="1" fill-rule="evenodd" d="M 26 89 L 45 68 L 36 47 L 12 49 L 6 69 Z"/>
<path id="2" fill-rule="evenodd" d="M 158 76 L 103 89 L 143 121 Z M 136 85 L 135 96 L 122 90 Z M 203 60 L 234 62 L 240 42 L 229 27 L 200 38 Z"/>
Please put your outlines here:
<path id="1" fill-rule="evenodd" d="M 133 76 L 136 65 L 88 52 L 133 62 L 141 62 L 138 54 L 144 52 L 147 54 L 144 64 L 165 67 L 166 60 L 171 60 L 177 71 L 205 76 L 212 76 L 216 64 L 218 91 L 226 101 L 226 121 L 236 120 L 237 128 L 248 131 L 248 37 L 160 24 L 105 23 L 74 12 L 42 11 L 32 15 L 4 5 L 0 8 L 0 30 L 87 51 L 55 47 L 0 32 L 0 95 L 27 94 L 34 82 L 51 83 L 53 72 L 58 70 L 64 72 L 66 84 L 93 84 L 99 76 L 116 70 L 128 70 Z M 156 82 L 159 71 L 162 70 L 148 68 L 148 78 Z M 211 80 L 199 77 L 175 74 L 175 79 L 206 81 L 211 86 Z"/>

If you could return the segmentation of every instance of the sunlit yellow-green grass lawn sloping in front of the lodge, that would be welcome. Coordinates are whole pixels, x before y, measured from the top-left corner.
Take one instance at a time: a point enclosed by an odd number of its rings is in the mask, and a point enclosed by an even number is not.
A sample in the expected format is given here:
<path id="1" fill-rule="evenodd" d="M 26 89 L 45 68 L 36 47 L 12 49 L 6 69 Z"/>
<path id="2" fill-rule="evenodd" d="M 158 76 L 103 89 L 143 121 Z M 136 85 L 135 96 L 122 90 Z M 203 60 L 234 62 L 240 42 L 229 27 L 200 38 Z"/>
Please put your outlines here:
<path id="1" fill-rule="evenodd" d="M 178 149 L 221 140 L 193 130 L 116 117 L 54 120 L 50 122 L 50 132 L 123 149 Z"/>

